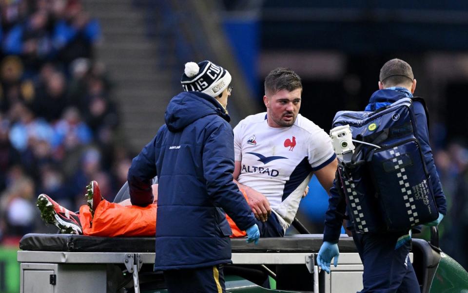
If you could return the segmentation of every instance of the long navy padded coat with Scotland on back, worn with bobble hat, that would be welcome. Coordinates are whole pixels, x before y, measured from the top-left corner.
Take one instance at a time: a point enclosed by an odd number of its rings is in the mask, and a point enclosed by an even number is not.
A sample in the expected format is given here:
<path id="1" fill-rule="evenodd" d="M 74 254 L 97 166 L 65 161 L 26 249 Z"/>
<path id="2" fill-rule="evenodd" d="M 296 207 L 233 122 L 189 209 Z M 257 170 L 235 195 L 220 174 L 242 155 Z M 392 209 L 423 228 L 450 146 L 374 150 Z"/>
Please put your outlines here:
<path id="1" fill-rule="evenodd" d="M 233 182 L 234 133 L 229 116 L 211 96 L 182 92 L 169 103 L 156 137 L 128 171 L 132 204 L 153 202 L 158 177 L 155 270 L 189 269 L 231 262 L 231 228 L 254 215 Z"/>

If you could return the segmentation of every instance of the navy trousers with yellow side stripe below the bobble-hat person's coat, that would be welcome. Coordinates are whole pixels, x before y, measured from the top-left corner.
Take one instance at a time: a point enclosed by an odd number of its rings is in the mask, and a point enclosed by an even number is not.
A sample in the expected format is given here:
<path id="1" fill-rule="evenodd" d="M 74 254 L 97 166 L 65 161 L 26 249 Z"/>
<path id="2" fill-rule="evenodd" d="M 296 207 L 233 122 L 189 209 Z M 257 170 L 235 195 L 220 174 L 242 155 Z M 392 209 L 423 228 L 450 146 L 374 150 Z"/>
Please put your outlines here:
<path id="1" fill-rule="evenodd" d="M 164 271 L 169 293 L 225 293 L 223 265 Z"/>

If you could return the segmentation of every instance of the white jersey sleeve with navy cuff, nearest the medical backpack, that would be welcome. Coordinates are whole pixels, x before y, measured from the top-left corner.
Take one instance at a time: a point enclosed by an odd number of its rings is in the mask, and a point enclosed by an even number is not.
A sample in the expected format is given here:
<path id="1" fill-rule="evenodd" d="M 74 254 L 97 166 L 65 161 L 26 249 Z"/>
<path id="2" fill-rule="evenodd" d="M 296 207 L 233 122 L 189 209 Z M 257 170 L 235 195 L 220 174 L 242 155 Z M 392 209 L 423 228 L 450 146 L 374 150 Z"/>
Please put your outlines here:
<path id="1" fill-rule="evenodd" d="M 323 129 L 318 128 L 311 134 L 308 155 L 313 171 L 320 170 L 335 159 L 330 136 Z"/>

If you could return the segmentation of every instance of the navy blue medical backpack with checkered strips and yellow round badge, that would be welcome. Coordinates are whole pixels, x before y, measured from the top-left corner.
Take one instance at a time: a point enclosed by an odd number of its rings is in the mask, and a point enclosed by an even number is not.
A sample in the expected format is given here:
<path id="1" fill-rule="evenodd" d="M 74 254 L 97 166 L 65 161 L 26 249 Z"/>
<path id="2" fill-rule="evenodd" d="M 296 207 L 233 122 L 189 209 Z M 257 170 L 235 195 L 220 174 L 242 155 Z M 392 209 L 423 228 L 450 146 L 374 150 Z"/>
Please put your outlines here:
<path id="1" fill-rule="evenodd" d="M 351 160 L 339 161 L 337 179 L 358 232 L 409 230 L 438 218 L 412 103 L 403 98 L 333 119 L 333 128 L 350 125 L 353 140 L 380 147 L 354 142 Z"/>

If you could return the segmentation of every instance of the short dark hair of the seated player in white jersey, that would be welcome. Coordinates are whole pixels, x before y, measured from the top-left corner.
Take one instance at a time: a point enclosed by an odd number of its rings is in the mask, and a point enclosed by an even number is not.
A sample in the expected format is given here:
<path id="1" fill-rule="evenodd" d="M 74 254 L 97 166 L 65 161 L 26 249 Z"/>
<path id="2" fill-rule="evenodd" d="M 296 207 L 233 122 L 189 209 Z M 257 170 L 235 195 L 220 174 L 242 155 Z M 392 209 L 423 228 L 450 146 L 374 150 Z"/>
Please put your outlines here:
<path id="1" fill-rule="evenodd" d="M 265 94 L 275 94 L 281 90 L 292 92 L 302 90 L 301 78 L 289 68 L 278 67 L 265 77 Z"/>

